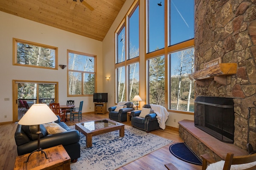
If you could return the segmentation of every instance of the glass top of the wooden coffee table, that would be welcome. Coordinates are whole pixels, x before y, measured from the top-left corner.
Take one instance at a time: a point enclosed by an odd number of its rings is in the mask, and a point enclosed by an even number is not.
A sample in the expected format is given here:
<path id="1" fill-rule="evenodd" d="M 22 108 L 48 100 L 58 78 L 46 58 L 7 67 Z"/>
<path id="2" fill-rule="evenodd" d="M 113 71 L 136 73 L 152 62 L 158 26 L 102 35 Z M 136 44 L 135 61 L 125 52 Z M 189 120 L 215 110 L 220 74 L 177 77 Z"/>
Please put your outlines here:
<path id="1" fill-rule="evenodd" d="M 87 130 L 92 131 L 92 130 L 102 129 L 105 127 L 115 126 L 119 123 L 113 122 L 113 121 L 108 121 L 108 120 L 104 119 L 104 120 L 98 120 L 98 121 L 83 122 L 80 124 Z"/>

